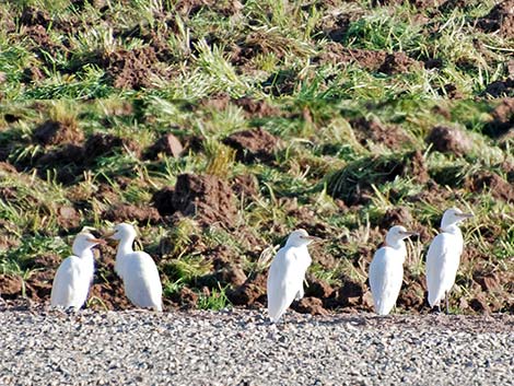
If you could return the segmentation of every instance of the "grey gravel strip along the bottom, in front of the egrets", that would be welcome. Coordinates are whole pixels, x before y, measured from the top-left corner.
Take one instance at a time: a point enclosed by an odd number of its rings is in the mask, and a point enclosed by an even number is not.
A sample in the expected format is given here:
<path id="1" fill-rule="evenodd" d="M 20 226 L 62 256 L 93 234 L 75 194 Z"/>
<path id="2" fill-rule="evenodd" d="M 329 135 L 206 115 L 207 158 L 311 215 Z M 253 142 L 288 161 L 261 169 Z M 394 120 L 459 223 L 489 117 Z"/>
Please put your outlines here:
<path id="1" fill-rule="evenodd" d="M 514 316 L 0 306 L 0 385 L 513 385 Z"/>

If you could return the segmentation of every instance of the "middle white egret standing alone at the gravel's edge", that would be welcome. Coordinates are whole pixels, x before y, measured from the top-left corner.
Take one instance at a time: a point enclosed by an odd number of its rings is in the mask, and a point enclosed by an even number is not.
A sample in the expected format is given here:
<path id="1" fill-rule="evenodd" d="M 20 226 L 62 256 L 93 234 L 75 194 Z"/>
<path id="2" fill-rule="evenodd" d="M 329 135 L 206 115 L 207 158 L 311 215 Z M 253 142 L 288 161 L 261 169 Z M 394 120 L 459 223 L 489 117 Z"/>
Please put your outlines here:
<path id="1" fill-rule="evenodd" d="M 312 258 L 307 245 L 317 237 L 304 230 L 290 234 L 285 246 L 280 248 L 268 273 L 268 314 L 277 323 L 293 300 L 304 295 L 303 281 Z"/>

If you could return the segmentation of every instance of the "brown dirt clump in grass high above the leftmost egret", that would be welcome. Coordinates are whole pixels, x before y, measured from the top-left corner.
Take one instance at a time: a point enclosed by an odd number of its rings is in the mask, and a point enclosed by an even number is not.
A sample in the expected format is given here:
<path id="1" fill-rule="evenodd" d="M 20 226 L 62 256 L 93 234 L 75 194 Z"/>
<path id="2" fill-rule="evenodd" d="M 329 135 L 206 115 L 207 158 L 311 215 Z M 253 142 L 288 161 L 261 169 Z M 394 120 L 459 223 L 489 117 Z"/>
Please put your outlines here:
<path id="1" fill-rule="evenodd" d="M 80 143 L 84 140 L 84 133 L 74 120 L 69 124 L 46 120 L 34 129 L 34 139 L 44 145 Z"/>

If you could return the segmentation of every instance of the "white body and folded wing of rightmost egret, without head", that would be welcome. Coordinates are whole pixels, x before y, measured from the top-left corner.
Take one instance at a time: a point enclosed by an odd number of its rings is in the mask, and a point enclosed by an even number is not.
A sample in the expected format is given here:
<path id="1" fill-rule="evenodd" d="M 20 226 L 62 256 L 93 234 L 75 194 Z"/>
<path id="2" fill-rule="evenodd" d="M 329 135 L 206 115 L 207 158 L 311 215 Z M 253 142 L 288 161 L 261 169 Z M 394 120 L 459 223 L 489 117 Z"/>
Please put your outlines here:
<path id="1" fill-rule="evenodd" d="M 427 254 L 427 286 L 431 306 L 439 305 L 455 282 L 462 247 L 453 244 L 458 244 L 458 239 L 448 233 L 436 235 L 430 244 Z"/>

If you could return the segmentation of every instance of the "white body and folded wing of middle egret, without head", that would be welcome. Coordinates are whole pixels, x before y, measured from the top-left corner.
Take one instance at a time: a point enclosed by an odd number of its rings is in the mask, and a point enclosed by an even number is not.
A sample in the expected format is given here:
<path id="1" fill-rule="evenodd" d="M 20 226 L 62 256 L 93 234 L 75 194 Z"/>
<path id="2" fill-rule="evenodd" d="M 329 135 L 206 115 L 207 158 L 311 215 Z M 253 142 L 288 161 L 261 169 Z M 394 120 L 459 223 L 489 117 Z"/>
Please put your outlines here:
<path id="1" fill-rule="evenodd" d="M 309 262 L 297 248 L 281 248 L 268 273 L 268 313 L 272 321 L 278 321 L 294 297 L 303 289 L 305 271 Z M 311 257 L 308 257 L 309 259 Z"/>

